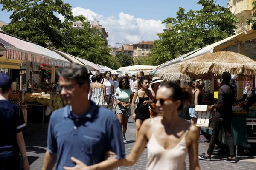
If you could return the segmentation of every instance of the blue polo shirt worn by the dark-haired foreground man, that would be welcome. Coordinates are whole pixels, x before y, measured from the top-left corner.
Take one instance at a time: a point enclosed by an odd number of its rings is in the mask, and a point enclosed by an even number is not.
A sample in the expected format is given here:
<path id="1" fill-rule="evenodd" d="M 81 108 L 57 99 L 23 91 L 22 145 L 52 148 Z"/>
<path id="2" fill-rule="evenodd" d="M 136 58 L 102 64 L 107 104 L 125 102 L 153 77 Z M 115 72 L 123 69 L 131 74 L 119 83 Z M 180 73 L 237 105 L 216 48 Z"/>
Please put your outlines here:
<path id="1" fill-rule="evenodd" d="M 75 166 L 71 156 L 87 165 L 103 161 L 108 150 L 115 152 L 117 159 L 125 157 L 120 122 L 116 115 L 91 101 L 89 110 L 81 117 L 74 116 L 68 105 L 52 113 L 47 150 L 57 153 L 56 170 L 62 170 L 63 166 Z"/>

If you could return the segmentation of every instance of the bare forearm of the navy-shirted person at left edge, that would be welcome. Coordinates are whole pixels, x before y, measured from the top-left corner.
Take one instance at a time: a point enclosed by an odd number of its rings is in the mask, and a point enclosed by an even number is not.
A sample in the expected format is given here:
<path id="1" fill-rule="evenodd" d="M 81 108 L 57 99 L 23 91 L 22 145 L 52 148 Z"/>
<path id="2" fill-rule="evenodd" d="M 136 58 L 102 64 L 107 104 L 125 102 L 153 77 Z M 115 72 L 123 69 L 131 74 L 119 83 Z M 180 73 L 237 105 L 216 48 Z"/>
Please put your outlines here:
<path id="1" fill-rule="evenodd" d="M 29 170 L 30 169 L 29 168 L 29 161 L 28 161 L 28 157 L 26 155 L 26 146 L 25 146 L 25 142 L 24 142 L 22 132 L 16 133 L 16 141 L 19 145 L 20 154 L 21 154 L 21 157 L 23 159 L 23 169 L 24 170 Z"/>

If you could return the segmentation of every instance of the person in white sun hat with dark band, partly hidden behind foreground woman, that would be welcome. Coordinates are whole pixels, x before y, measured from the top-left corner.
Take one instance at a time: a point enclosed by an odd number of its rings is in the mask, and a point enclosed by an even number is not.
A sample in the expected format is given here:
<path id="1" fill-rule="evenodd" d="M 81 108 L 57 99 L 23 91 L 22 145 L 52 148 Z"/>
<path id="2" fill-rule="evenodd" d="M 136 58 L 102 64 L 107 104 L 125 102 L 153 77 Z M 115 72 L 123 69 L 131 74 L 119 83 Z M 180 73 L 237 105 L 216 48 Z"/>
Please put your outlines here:
<path id="1" fill-rule="evenodd" d="M 152 96 L 154 97 L 154 99 L 155 99 L 155 96 L 157 94 L 157 89 L 159 88 L 161 82 L 163 82 L 163 80 L 160 80 L 160 78 L 157 77 L 157 76 L 152 78 L 149 90 L 151 91 Z M 157 106 L 156 106 L 155 103 L 151 103 L 149 105 L 149 112 L 150 112 L 150 117 L 157 116 Z"/>

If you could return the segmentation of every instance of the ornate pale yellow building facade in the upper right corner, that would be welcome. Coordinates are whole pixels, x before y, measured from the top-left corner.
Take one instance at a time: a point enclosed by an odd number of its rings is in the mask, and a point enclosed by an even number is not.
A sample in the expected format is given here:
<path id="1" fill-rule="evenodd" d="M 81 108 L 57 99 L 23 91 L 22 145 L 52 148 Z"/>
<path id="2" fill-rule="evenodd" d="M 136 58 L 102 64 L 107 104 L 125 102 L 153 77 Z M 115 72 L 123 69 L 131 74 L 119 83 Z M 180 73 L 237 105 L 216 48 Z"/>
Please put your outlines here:
<path id="1" fill-rule="evenodd" d="M 253 6 L 252 3 L 256 0 L 229 0 L 227 3 L 227 8 L 230 9 L 232 14 L 236 15 L 239 19 L 239 23 L 236 23 L 237 26 L 236 34 L 243 31 L 250 30 L 250 26 L 247 25 L 246 21 L 248 19 L 253 19 Z"/>

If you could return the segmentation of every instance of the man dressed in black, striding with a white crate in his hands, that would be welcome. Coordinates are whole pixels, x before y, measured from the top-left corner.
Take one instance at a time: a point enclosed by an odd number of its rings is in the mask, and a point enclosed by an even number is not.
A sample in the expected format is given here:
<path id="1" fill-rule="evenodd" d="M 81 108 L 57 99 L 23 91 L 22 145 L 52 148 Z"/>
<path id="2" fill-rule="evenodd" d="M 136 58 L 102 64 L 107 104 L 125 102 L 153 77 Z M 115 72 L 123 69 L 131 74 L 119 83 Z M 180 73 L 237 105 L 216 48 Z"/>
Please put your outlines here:
<path id="1" fill-rule="evenodd" d="M 230 85 L 230 80 L 231 80 L 230 73 L 223 72 L 221 78 L 222 78 L 223 85 L 219 89 L 217 105 L 211 105 L 209 107 L 210 111 L 216 108 L 215 116 L 212 118 L 213 130 L 212 130 L 212 137 L 209 144 L 209 148 L 207 150 L 207 153 L 198 155 L 198 158 L 202 160 L 207 160 L 207 161 L 211 160 L 211 155 L 215 147 L 215 143 L 218 140 L 218 133 L 223 127 L 224 132 L 226 134 L 229 151 L 230 151 L 230 157 L 225 159 L 225 161 L 236 163 L 237 160 L 235 157 L 234 144 L 233 144 L 233 139 L 231 134 L 231 121 L 232 121 L 232 114 L 233 114 L 232 104 L 236 102 L 235 90 Z"/>

